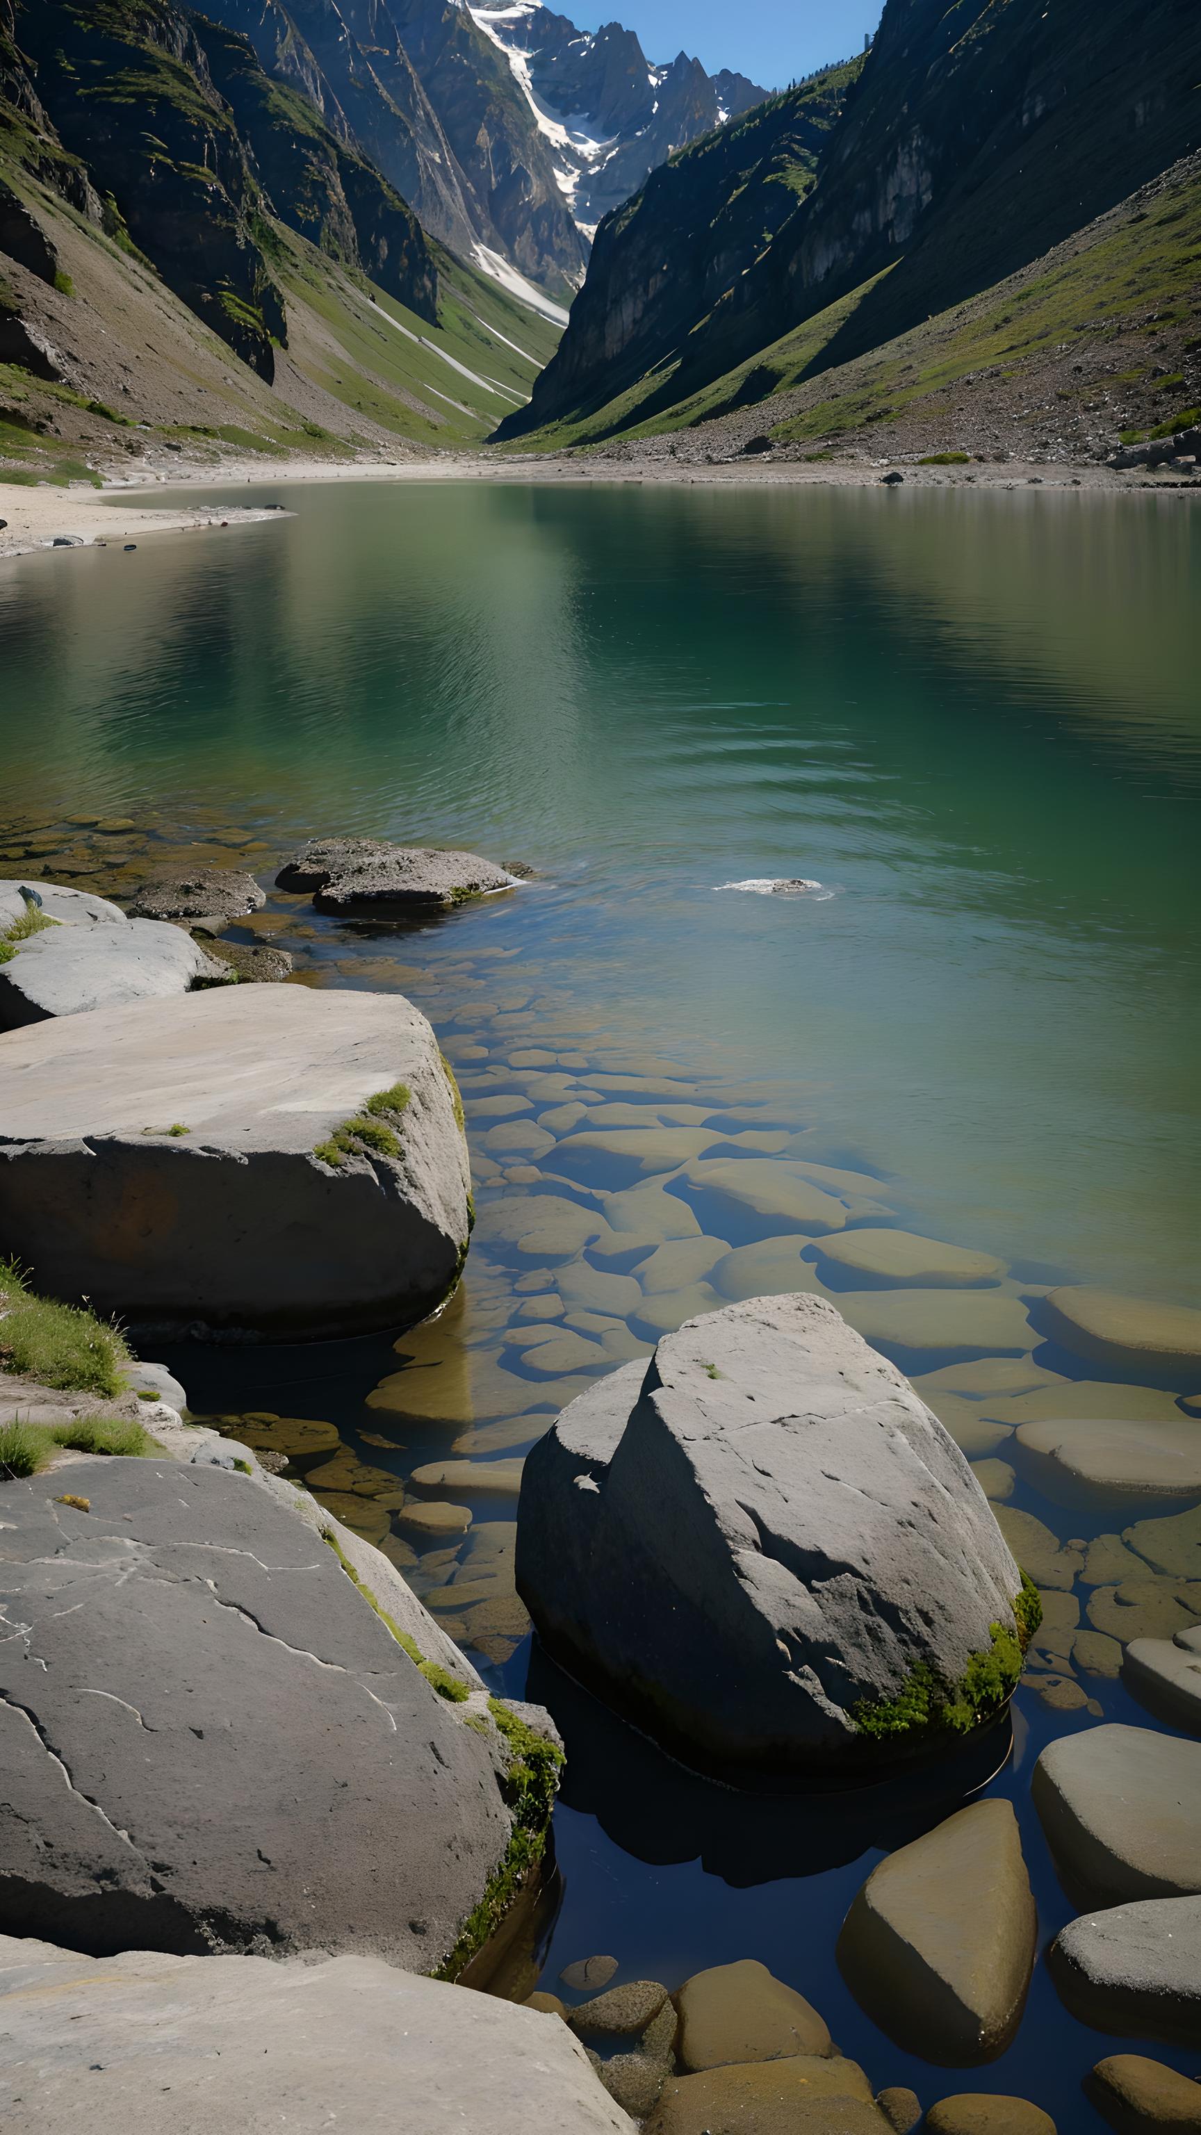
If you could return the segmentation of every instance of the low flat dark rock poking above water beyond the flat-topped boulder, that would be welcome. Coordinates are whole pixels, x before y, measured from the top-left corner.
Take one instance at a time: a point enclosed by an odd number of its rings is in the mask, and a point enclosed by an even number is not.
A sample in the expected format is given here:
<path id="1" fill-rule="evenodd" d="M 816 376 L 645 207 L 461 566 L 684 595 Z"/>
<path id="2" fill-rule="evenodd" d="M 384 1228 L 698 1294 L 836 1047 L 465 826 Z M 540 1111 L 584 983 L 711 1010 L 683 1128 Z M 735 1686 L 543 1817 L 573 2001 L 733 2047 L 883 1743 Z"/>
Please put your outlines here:
<path id="1" fill-rule="evenodd" d="M 479 852 L 389 845 L 357 837 L 310 839 L 276 875 L 282 890 L 314 890 L 318 912 L 363 916 L 457 905 L 492 897 L 496 890 L 513 890 L 521 880 L 496 860 L 483 860 Z"/>

